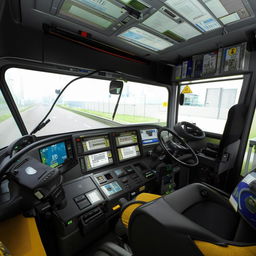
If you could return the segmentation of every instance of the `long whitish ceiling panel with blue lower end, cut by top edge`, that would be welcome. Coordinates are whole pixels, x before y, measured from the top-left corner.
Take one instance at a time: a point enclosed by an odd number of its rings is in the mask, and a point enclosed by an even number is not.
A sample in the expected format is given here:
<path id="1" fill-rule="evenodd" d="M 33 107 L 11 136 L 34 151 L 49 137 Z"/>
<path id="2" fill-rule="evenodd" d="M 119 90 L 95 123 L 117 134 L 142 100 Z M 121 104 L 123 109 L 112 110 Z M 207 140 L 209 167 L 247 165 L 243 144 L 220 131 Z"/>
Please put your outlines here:
<path id="1" fill-rule="evenodd" d="M 198 0 L 167 0 L 165 3 L 202 32 L 208 32 L 221 27 Z"/>

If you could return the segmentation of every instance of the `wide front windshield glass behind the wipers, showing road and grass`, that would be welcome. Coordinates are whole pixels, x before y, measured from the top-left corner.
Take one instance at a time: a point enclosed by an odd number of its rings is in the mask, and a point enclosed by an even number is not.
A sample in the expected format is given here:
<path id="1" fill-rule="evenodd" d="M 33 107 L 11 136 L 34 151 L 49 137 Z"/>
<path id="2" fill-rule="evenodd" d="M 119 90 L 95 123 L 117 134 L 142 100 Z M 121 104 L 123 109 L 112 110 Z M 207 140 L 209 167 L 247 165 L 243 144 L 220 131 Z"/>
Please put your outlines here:
<path id="1" fill-rule="evenodd" d="M 8 69 L 6 83 L 28 132 L 42 120 L 61 89 L 74 76 Z M 127 124 L 166 125 L 168 90 L 165 87 L 124 82 L 122 97 L 112 121 L 118 95 L 109 93 L 110 81 L 82 78 L 72 83 L 58 100 L 50 123 L 36 135 L 116 127 Z"/>

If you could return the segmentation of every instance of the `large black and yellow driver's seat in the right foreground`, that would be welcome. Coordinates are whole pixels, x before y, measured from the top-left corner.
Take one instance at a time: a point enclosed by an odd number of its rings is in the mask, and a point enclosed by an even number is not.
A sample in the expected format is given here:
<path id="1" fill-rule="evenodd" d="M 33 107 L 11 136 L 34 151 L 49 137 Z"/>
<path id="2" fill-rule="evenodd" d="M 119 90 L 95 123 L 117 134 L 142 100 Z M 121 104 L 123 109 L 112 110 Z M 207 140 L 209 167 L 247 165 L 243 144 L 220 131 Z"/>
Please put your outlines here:
<path id="1" fill-rule="evenodd" d="M 151 198 L 145 204 L 140 198 L 129 218 L 132 255 L 256 255 L 256 231 L 232 208 L 225 193 L 196 183 Z M 131 256 L 118 250 L 104 255 Z"/>

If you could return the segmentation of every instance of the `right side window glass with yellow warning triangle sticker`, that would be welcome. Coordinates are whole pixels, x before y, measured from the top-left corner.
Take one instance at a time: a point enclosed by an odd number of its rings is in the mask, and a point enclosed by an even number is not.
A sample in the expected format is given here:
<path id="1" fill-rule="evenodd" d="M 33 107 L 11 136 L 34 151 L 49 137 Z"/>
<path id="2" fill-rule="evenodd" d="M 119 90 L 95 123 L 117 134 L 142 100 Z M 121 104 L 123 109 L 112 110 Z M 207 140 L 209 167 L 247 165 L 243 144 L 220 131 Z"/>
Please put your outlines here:
<path id="1" fill-rule="evenodd" d="M 241 76 L 235 80 L 182 83 L 185 98 L 183 106 L 179 106 L 178 122 L 195 123 L 204 131 L 222 134 L 228 111 L 238 103 L 242 85 Z"/>

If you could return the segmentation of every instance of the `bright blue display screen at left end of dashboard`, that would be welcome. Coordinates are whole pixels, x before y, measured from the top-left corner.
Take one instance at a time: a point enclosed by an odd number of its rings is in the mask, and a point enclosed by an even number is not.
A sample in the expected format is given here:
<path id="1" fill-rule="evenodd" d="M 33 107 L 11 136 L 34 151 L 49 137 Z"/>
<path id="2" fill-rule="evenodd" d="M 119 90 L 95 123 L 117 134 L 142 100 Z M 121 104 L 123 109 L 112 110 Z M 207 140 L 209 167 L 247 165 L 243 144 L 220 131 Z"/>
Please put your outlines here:
<path id="1" fill-rule="evenodd" d="M 62 165 L 68 158 L 65 142 L 50 145 L 39 150 L 41 161 L 51 167 Z"/>

